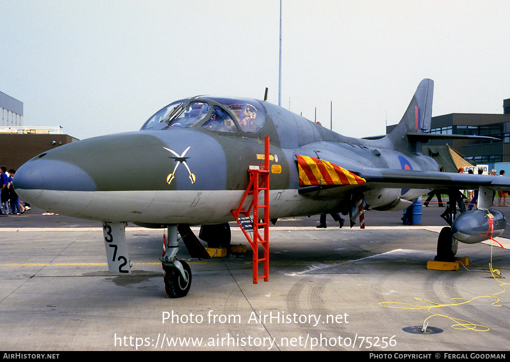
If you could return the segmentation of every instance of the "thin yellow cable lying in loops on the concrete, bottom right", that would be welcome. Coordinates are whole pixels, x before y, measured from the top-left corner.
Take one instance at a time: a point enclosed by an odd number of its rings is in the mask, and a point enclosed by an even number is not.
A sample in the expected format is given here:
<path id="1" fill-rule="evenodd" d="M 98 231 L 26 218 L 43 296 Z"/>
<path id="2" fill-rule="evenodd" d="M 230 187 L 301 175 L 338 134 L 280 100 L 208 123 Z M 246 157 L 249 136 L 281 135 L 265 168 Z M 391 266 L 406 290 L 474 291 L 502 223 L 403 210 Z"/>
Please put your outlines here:
<path id="1" fill-rule="evenodd" d="M 492 239 L 492 238 L 491 238 Z M 493 278 L 495 280 L 497 280 L 497 278 L 504 278 L 500 271 L 497 270 L 497 269 L 493 269 L 492 267 L 492 250 L 493 250 L 493 245 L 491 245 L 491 262 L 489 263 L 489 269 L 490 269 L 490 272 L 493 276 Z M 465 267 L 466 268 L 466 267 Z M 466 270 L 468 270 L 466 268 Z M 472 323 L 472 322 L 468 322 L 468 321 L 464 321 L 462 319 L 457 319 L 457 318 L 452 318 L 452 317 L 449 317 L 449 316 L 446 316 L 446 315 L 442 315 L 442 314 L 436 314 L 436 313 L 433 313 L 431 310 L 433 308 L 440 308 L 440 307 L 448 307 L 448 306 L 458 306 L 458 305 L 463 305 L 463 304 L 467 304 L 475 299 L 478 299 L 478 298 L 494 298 L 496 299 L 495 302 L 491 303 L 492 306 L 501 306 L 501 304 L 499 304 L 499 298 L 496 297 L 496 295 L 498 294 L 501 294 L 505 291 L 504 287 L 505 285 L 510 285 L 510 283 L 503 283 L 503 282 L 500 282 L 499 284 L 499 287 L 501 289 L 503 289 L 501 292 L 498 292 L 498 293 L 494 293 L 492 296 L 478 296 L 478 297 L 474 297 L 472 299 L 466 299 L 466 298 L 451 298 L 450 301 L 453 302 L 453 304 L 439 304 L 439 303 L 435 303 L 435 302 L 431 302 L 431 301 L 428 301 L 428 300 L 425 300 L 425 299 L 422 299 L 422 298 L 414 298 L 415 300 L 418 300 L 418 301 L 422 301 L 422 302 L 425 302 L 425 303 L 429 303 L 429 304 L 433 304 L 432 306 L 430 305 L 413 305 L 413 304 L 407 304 L 407 303 L 402 303 L 402 302 L 380 302 L 378 305 L 381 306 L 381 307 L 385 307 L 385 308 L 394 308 L 394 309 L 427 309 L 427 312 L 431 314 L 431 316 L 429 316 L 428 318 L 426 318 L 424 321 L 423 321 L 423 331 L 426 329 L 426 325 L 427 324 L 427 320 L 432 318 L 432 317 L 443 317 L 443 318 L 447 318 L 447 319 L 450 319 L 452 320 L 453 322 L 455 322 L 455 324 L 453 324 L 451 327 L 453 329 L 461 329 L 461 330 L 474 330 L 474 331 L 477 331 L 477 332 L 487 332 L 488 330 L 490 330 L 489 327 L 487 326 L 483 326 L 483 325 L 480 325 L 480 324 L 475 324 L 475 323 Z M 464 302 L 458 302 L 457 300 L 459 301 L 462 301 L 464 300 Z M 390 304 L 390 305 L 387 305 L 387 304 Z M 398 304 L 398 305 L 405 305 L 405 306 L 391 306 L 391 304 Z"/>

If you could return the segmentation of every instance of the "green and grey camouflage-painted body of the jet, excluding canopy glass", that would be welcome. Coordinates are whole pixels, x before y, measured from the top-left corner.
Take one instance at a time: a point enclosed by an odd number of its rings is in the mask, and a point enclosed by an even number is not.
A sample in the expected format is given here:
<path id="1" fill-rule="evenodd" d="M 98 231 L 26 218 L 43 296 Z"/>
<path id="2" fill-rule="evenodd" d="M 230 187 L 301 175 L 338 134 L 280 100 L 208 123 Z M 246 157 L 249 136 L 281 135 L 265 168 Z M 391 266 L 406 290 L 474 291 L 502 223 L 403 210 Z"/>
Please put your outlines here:
<path id="1" fill-rule="evenodd" d="M 377 140 L 341 136 L 284 108 L 256 100 L 252 101 L 263 105 L 259 112 L 266 118 L 259 132 L 208 130 L 201 125 L 213 106 L 222 107 L 238 130 L 241 128 L 236 115 L 218 98 L 195 97 L 209 105 L 209 112 L 192 127 L 143 129 L 66 144 L 19 168 L 14 186 L 24 200 L 39 208 L 77 218 L 219 224 L 233 220 L 231 210 L 248 184 L 248 167 L 263 163 L 257 155 L 264 154 L 264 137 L 269 136 L 271 219 L 345 214 L 354 194 L 362 195 L 367 207 L 402 210 L 430 189 L 510 189 L 503 177 L 439 172 L 437 163 L 421 154 L 421 143 L 427 141 L 424 132 L 430 129 L 432 91 L 433 82 L 423 80 L 399 125 Z M 175 154 L 183 155 L 177 167 Z M 367 183 L 301 187 L 296 154 L 319 156 Z M 174 178 L 168 183 L 174 169 Z"/>

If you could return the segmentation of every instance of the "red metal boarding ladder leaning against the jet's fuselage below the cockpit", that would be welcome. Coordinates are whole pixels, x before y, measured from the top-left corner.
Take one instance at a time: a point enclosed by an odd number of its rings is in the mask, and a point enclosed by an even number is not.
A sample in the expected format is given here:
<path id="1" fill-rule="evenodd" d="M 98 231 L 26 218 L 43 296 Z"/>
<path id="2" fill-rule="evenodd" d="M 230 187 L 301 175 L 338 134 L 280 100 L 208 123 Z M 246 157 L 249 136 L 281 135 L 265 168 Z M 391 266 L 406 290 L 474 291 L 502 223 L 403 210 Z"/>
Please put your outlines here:
<path id="1" fill-rule="evenodd" d="M 261 165 L 262 166 L 262 165 Z M 232 215 L 236 219 L 244 236 L 253 250 L 253 284 L 257 284 L 259 279 L 269 281 L 269 137 L 265 138 L 264 166 L 258 169 L 249 169 L 250 182 L 237 209 L 232 210 Z M 259 192 L 264 192 L 264 203 L 259 204 Z M 253 195 L 248 210 L 243 209 L 243 203 L 248 195 Z M 264 220 L 260 222 L 259 209 L 264 210 Z M 253 239 L 246 231 L 246 220 L 249 219 L 253 209 Z M 242 222 L 239 221 L 239 214 L 243 214 Z M 264 229 L 264 237 L 261 236 L 259 228 Z M 249 228 L 248 228 L 248 231 Z M 259 258 L 259 244 L 263 247 L 263 257 Z M 259 262 L 264 262 L 264 275 L 259 276 Z"/>

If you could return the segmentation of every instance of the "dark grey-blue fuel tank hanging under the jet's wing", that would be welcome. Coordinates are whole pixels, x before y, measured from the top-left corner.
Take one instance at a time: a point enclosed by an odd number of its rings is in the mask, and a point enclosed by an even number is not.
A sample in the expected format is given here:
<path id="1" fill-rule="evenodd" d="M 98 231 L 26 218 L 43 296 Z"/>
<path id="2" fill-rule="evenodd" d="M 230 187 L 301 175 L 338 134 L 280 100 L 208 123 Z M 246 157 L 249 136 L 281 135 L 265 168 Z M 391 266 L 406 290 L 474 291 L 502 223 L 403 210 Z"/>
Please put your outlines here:
<path id="1" fill-rule="evenodd" d="M 451 225 L 451 230 L 458 241 L 475 244 L 500 236 L 505 226 L 506 220 L 502 213 L 495 209 L 485 209 L 461 214 Z"/>

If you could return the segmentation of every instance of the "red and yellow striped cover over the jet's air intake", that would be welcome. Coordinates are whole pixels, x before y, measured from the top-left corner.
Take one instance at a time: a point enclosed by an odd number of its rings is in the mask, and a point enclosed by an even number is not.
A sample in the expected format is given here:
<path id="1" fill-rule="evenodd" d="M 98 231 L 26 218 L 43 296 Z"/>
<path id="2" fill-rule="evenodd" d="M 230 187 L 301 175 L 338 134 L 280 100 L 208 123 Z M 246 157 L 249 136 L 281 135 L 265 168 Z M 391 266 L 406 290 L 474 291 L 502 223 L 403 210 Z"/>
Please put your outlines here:
<path id="1" fill-rule="evenodd" d="M 303 185 L 363 185 L 364 178 L 345 168 L 313 157 L 296 154 L 299 184 Z"/>

